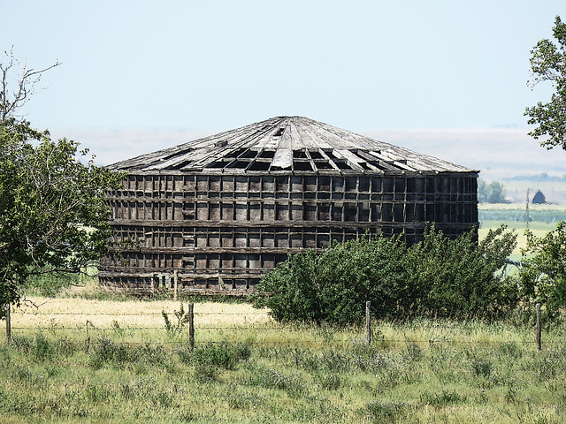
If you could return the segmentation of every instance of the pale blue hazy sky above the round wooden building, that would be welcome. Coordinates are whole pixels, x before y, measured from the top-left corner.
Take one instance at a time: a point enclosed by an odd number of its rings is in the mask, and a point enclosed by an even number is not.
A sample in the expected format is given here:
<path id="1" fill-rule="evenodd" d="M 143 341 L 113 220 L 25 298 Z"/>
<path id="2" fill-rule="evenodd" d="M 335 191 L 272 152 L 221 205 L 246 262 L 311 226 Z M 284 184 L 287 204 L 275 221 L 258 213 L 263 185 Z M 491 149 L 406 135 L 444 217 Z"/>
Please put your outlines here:
<path id="1" fill-rule="evenodd" d="M 562 176 L 524 117 L 552 94 L 527 80 L 556 15 L 564 0 L 0 0 L 0 50 L 61 63 L 21 112 L 99 164 L 289 115 L 487 179 Z"/>

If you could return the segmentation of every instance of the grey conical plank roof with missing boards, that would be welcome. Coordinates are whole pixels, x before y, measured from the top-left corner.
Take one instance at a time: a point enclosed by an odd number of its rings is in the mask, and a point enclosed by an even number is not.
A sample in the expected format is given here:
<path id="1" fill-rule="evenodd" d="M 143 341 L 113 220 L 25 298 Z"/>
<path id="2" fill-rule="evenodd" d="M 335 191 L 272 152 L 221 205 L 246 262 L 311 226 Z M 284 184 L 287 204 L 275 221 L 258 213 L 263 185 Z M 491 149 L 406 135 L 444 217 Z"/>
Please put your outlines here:
<path id="1" fill-rule="evenodd" d="M 111 170 L 478 172 L 307 117 L 272 117 L 108 166 Z"/>

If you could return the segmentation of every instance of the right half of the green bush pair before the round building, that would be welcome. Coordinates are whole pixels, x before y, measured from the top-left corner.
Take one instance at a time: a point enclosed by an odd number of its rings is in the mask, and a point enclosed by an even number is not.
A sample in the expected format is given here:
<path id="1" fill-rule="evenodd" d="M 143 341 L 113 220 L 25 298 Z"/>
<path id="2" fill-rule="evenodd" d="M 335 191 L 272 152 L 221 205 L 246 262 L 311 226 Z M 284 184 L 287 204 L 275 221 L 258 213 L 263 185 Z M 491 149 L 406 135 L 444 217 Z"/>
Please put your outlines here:
<path id="1" fill-rule="evenodd" d="M 409 314 L 493 319 L 516 306 L 509 277 L 498 276 L 516 246 L 516 234 L 501 226 L 478 243 L 475 231 L 449 239 L 434 227 L 409 248 L 406 286 L 400 302 Z"/>

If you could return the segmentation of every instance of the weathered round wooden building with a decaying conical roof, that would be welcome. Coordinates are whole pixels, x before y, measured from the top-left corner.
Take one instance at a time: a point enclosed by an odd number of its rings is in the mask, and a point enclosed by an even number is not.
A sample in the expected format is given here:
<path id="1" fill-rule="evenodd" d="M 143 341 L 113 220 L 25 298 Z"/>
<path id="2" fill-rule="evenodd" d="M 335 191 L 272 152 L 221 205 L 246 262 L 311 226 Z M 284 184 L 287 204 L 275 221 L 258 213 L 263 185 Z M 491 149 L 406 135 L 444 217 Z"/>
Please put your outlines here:
<path id="1" fill-rule="evenodd" d="M 109 167 L 118 260 L 103 286 L 245 293 L 303 249 L 371 234 L 420 239 L 478 225 L 478 171 L 305 117 L 273 117 Z"/>

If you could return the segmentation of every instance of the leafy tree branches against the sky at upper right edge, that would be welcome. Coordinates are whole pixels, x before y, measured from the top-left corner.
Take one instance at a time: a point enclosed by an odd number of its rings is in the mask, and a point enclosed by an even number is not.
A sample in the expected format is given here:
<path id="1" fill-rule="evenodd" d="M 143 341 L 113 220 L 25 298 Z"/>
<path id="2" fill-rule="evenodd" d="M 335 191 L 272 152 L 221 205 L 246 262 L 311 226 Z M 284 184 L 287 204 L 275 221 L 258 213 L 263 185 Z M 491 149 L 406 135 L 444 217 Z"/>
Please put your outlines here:
<path id="1" fill-rule="evenodd" d="M 538 102 L 536 106 L 526 108 L 528 123 L 539 125 L 532 130 L 535 140 L 547 136 L 540 141 L 541 146 L 554 148 L 562 146 L 566 150 L 566 24 L 559 16 L 555 18 L 553 34 L 556 42 L 540 40 L 531 50 L 532 87 L 540 81 L 551 81 L 555 93 L 550 102 Z"/>

